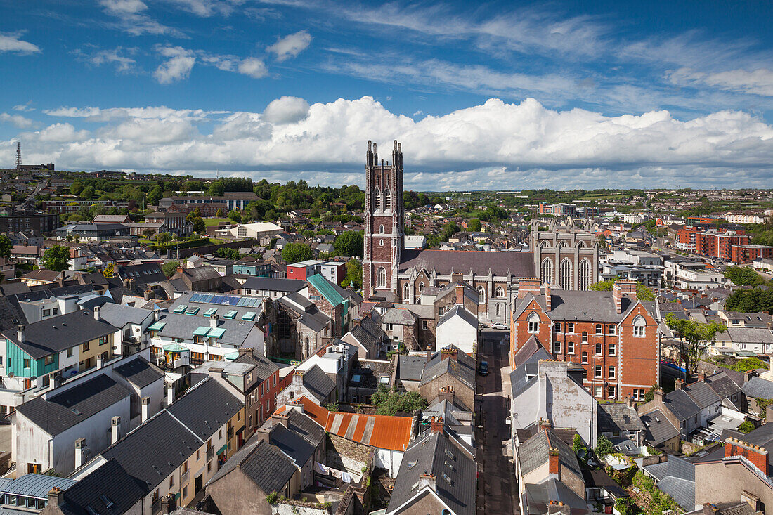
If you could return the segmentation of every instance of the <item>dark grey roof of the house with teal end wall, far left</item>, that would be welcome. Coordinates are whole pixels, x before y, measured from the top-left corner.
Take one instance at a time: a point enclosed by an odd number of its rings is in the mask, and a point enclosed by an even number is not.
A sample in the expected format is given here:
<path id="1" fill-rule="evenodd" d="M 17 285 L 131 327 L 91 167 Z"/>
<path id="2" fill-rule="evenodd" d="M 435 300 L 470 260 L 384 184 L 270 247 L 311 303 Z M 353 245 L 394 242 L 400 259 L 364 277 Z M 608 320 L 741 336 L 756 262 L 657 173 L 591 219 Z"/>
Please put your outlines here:
<path id="1" fill-rule="evenodd" d="M 94 313 L 82 309 L 28 324 L 25 327 L 23 343 L 16 338 L 16 329 L 6 329 L 2 336 L 37 360 L 115 331 L 114 326 L 104 320 L 94 319 Z"/>

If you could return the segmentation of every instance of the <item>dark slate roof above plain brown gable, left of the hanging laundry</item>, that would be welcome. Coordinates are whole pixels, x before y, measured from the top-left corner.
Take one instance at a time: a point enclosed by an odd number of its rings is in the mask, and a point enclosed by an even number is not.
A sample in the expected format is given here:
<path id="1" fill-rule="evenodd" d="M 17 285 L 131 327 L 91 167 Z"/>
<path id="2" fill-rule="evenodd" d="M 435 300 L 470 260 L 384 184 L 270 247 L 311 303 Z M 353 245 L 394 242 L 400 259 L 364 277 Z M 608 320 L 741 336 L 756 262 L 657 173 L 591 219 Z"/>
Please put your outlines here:
<path id="1" fill-rule="evenodd" d="M 277 447 L 253 437 L 215 472 L 207 485 L 240 468 L 264 493 L 281 492 L 297 470 Z"/>

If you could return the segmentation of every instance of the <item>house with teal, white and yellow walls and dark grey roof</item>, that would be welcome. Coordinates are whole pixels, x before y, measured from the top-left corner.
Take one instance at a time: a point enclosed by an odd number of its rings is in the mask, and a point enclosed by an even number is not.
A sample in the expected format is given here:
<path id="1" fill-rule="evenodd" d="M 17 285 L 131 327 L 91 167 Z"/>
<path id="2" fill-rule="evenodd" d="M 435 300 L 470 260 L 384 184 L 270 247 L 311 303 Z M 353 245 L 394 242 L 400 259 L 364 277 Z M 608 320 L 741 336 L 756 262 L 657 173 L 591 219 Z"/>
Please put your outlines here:
<path id="1" fill-rule="evenodd" d="M 11 411 L 30 388 L 42 389 L 111 360 L 116 328 L 99 308 L 83 309 L 2 332 L 0 413 Z"/>

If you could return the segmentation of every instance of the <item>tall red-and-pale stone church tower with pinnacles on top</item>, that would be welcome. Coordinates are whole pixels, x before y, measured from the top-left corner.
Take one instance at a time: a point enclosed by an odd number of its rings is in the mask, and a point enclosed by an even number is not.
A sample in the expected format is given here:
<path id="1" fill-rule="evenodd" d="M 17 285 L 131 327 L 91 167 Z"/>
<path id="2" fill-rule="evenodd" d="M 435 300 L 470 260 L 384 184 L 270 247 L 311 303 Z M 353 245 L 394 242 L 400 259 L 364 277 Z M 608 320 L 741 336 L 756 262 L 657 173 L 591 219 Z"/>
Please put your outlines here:
<path id="1" fill-rule="evenodd" d="M 397 294 L 397 267 L 403 251 L 403 152 L 393 142 L 392 162 L 379 162 L 368 142 L 365 179 L 363 298 Z M 391 295 L 390 295 L 391 294 Z"/>

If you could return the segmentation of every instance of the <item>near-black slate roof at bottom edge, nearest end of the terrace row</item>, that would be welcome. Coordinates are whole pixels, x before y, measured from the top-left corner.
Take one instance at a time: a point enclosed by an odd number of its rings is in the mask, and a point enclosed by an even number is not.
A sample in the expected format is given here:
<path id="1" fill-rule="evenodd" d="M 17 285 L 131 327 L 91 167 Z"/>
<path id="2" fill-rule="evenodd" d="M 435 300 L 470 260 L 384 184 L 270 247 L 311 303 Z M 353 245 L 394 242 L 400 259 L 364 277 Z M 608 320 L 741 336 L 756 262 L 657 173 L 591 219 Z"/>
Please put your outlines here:
<path id="1" fill-rule="evenodd" d="M 66 489 L 60 509 L 65 515 L 126 513 L 144 496 L 135 479 L 115 459 L 111 459 Z M 104 500 L 111 503 L 109 508 Z M 92 511 L 87 511 L 87 508 Z"/>

